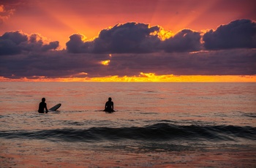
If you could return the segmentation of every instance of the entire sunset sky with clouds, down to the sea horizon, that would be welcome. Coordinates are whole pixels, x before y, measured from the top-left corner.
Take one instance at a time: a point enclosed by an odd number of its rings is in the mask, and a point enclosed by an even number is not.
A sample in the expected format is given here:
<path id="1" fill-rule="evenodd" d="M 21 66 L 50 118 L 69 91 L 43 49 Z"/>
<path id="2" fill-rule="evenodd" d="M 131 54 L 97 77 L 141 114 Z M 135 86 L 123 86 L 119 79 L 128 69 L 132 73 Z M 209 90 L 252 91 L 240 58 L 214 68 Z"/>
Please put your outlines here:
<path id="1" fill-rule="evenodd" d="M 0 81 L 256 82 L 253 0 L 1 0 Z"/>

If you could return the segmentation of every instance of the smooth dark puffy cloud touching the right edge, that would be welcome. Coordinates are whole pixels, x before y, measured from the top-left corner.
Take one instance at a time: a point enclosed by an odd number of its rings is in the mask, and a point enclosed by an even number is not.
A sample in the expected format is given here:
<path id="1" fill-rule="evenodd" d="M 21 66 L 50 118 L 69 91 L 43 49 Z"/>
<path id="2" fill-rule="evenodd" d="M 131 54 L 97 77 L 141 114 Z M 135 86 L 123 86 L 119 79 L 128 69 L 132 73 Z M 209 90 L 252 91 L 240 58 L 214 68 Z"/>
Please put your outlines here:
<path id="1" fill-rule="evenodd" d="M 203 35 L 207 50 L 256 47 L 256 23 L 252 20 L 234 20 L 222 25 L 216 31 L 210 30 Z"/>

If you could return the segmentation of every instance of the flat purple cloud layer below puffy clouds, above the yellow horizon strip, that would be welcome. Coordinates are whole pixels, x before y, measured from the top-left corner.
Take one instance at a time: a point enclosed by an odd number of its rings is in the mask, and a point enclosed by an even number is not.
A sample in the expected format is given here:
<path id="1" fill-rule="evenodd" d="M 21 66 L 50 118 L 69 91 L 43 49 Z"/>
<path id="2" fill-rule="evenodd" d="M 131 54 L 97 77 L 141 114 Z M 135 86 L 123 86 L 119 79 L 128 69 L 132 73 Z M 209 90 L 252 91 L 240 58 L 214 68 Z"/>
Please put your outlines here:
<path id="1" fill-rule="evenodd" d="M 110 60 L 108 66 L 100 61 Z M 0 76 L 10 78 L 157 75 L 256 75 L 256 53 L 251 49 L 199 53 L 66 53 L 18 54 L 0 57 Z"/>

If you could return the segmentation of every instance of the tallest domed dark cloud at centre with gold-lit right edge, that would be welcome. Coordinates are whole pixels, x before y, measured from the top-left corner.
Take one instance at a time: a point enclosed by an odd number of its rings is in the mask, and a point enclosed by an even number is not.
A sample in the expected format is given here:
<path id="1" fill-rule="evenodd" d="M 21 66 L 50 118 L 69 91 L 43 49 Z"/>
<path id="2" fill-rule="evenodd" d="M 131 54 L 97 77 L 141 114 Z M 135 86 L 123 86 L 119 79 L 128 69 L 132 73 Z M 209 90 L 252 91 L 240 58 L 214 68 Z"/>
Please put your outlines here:
<path id="1" fill-rule="evenodd" d="M 126 23 L 105 29 L 95 39 L 95 52 L 110 53 L 151 53 L 160 40 L 158 26 L 149 27 L 143 23 Z M 107 44 L 106 44 L 107 43 Z M 105 45 L 106 44 L 106 45 Z"/>

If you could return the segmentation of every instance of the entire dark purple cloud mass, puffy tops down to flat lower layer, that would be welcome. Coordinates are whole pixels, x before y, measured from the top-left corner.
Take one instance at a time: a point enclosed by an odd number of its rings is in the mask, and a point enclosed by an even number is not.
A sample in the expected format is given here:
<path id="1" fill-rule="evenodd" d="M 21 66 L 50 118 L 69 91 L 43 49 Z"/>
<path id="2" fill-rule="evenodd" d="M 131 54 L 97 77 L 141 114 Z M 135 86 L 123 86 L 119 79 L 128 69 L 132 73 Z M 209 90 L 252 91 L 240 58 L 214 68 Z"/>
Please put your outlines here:
<path id="1" fill-rule="evenodd" d="M 145 23 L 118 24 L 92 41 L 72 34 L 66 50 L 39 34 L 6 32 L 0 37 L 0 76 L 256 75 L 255 21 L 234 20 L 204 34 L 184 29 L 168 38 L 160 38 L 162 31 Z"/>

